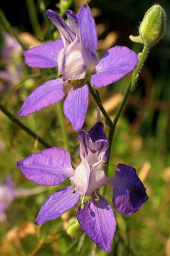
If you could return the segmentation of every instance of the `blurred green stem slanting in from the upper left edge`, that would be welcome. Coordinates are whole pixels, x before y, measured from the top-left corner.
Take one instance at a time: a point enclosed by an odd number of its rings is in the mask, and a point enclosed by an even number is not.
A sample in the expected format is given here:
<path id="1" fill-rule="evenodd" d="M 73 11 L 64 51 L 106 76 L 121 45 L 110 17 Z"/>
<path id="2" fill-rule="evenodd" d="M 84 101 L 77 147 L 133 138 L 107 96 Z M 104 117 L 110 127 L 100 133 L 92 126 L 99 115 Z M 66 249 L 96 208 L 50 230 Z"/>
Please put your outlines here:
<path id="1" fill-rule="evenodd" d="M 6 30 L 18 41 L 20 46 L 23 48 L 23 50 L 28 50 L 28 47 L 23 44 L 23 42 L 19 39 L 17 33 L 14 31 L 14 28 L 12 28 L 11 24 L 6 19 L 6 16 L 3 14 L 2 10 L 0 9 L 0 20 L 3 24 L 3 26 L 6 28 Z"/>

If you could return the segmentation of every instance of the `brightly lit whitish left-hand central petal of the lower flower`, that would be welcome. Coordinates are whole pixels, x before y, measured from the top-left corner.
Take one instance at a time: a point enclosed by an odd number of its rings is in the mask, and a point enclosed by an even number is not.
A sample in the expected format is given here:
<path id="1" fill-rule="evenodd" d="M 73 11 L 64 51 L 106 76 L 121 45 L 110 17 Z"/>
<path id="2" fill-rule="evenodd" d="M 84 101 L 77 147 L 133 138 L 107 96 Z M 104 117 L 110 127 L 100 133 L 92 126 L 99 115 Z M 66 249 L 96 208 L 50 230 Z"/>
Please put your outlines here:
<path id="1" fill-rule="evenodd" d="M 75 184 L 80 195 L 86 194 L 89 176 L 90 166 L 86 158 L 82 157 L 81 163 L 75 169 L 74 176 L 70 178 L 70 181 Z"/>

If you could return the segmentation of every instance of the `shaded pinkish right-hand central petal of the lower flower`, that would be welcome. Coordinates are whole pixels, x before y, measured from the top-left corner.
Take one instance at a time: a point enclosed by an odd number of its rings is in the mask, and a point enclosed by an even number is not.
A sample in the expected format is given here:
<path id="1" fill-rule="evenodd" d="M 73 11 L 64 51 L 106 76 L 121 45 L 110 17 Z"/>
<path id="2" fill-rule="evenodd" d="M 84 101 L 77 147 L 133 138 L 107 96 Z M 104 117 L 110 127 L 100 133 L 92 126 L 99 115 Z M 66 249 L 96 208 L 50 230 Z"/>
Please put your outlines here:
<path id="1" fill-rule="evenodd" d="M 97 162 L 91 167 L 90 177 L 88 182 L 87 195 L 91 195 L 94 190 L 98 190 L 106 183 L 107 177 L 104 173 L 102 162 Z"/>

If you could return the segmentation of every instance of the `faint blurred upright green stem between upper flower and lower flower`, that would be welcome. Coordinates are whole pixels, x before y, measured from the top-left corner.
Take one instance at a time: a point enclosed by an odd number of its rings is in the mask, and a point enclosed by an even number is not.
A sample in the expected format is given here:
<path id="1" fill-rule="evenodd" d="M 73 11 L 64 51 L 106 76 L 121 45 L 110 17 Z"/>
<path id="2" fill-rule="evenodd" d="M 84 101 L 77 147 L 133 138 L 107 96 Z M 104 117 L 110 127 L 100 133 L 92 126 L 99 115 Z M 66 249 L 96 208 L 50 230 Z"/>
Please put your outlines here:
<path id="1" fill-rule="evenodd" d="M 62 102 L 61 101 L 57 103 L 57 110 L 58 110 L 57 114 L 58 114 L 59 125 L 61 127 L 63 140 L 65 142 L 65 149 L 70 151 L 69 138 L 68 138 L 68 135 L 67 135 L 66 124 L 65 124 L 65 116 L 63 114 Z"/>

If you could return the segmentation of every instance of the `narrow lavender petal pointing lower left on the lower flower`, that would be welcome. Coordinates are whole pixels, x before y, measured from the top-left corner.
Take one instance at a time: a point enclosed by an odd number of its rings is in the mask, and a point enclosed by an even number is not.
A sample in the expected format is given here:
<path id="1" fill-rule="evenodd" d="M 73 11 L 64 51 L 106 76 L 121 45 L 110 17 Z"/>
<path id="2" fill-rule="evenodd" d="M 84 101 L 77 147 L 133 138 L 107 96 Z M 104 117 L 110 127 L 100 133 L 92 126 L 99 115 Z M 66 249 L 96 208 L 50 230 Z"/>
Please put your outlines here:
<path id="1" fill-rule="evenodd" d="M 42 205 L 37 219 L 36 225 L 40 225 L 48 220 L 53 220 L 62 215 L 65 211 L 72 208 L 79 200 L 80 194 L 74 191 L 75 187 L 65 187 L 50 195 Z"/>

